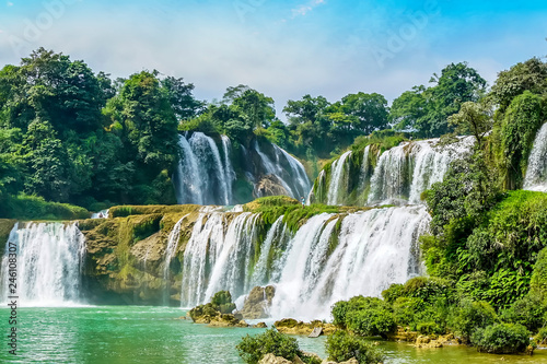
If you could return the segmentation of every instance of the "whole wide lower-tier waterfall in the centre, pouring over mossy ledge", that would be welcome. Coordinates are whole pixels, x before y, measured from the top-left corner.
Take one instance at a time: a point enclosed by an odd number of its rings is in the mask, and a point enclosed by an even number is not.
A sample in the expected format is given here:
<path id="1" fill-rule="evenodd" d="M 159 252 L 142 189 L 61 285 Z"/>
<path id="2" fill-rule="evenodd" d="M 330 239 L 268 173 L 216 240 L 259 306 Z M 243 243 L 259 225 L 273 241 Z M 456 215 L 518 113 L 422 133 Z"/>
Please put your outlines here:
<path id="1" fill-rule="evenodd" d="M 276 318 L 328 318 L 339 300 L 379 296 L 419 274 L 417 242 L 429 219 L 422 206 L 322 213 L 290 233 L 280 216 L 259 233 L 260 214 L 201 213 L 184 254 L 182 305 L 274 284 Z"/>

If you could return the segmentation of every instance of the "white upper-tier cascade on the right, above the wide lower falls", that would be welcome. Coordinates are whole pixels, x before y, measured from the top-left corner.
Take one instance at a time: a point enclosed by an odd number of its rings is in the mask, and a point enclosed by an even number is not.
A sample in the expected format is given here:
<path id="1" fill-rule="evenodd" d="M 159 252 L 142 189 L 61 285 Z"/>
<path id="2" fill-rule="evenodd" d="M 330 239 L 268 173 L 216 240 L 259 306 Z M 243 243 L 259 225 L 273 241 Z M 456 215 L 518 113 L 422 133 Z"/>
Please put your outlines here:
<path id="1" fill-rule="evenodd" d="M 325 181 L 319 178 L 315 190 L 318 200 L 328 204 L 407 204 L 420 203 L 421 193 L 434 183 L 441 181 L 452 161 L 470 151 L 473 137 L 437 146 L 439 139 L 404 142 L 382 154 L 372 155 L 370 145 L 363 151 L 360 168 L 351 169 L 349 160 L 358 155 L 346 152 L 333 162 L 328 176 L 328 191 L 322 192 Z M 372 163 L 377 158 L 376 163 Z M 325 175 L 319 175 L 325 179 Z M 353 176 L 346 186 L 348 176 Z M 350 190 L 351 189 L 351 190 Z M 351 197 L 350 201 L 347 198 Z"/>

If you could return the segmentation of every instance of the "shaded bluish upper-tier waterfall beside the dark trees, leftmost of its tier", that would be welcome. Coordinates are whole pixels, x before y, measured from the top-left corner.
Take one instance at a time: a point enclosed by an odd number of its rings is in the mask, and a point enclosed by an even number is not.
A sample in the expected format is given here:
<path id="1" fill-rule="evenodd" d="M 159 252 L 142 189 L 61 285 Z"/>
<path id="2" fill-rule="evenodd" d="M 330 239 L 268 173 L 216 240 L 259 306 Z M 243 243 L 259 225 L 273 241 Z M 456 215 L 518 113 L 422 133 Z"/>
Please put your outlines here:
<path id="1" fill-rule="evenodd" d="M 179 136 L 181 161 L 175 173 L 178 203 L 230 204 L 233 168 L 229 164 L 229 145 L 222 139 L 224 161 L 214 140 L 202 132 L 189 139 Z"/>

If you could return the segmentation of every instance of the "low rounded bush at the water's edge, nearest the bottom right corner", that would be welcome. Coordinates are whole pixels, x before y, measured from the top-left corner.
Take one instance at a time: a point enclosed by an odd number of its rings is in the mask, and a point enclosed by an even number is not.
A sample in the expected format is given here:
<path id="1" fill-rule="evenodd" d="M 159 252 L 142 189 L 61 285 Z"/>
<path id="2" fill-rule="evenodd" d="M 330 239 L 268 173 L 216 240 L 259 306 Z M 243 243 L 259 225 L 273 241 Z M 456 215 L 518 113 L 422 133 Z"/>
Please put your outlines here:
<path id="1" fill-rule="evenodd" d="M 529 331 L 519 324 L 496 324 L 478 329 L 472 343 L 480 352 L 512 354 L 524 352 L 529 344 Z"/>

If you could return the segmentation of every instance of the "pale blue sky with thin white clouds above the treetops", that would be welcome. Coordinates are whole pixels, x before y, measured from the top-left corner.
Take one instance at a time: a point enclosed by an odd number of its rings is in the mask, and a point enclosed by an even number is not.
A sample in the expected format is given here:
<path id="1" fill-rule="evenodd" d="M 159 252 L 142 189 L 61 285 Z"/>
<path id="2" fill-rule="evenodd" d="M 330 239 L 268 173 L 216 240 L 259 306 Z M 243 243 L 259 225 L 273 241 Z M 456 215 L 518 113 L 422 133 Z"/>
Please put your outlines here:
<path id="1" fill-rule="evenodd" d="M 127 78 L 159 70 L 220 99 L 246 84 L 276 101 L 350 93 L 389 102 L 468 62 L 499 71 L 547 55 L 547 2 L 418 0 L 0 0 L 0 67 L 39 47 Z"/>

